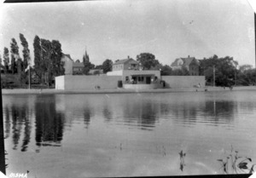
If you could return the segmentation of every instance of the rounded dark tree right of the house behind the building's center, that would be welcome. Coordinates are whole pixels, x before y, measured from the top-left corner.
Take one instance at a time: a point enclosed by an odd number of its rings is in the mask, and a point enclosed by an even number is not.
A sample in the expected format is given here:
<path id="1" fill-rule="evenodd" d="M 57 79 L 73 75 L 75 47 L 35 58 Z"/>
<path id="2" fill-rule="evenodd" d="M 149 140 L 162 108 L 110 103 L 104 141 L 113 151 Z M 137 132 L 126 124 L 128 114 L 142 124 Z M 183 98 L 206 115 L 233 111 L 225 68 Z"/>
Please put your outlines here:
<path id="1" fill-rule="evenodd" d="M 142 53 L 137 55 L 137 62 L 143 67 L 143 70 L 150 70 L 157 66 L 159 63 L 158 60 L 155 60 L 154 55 L 150 53 Z"/>

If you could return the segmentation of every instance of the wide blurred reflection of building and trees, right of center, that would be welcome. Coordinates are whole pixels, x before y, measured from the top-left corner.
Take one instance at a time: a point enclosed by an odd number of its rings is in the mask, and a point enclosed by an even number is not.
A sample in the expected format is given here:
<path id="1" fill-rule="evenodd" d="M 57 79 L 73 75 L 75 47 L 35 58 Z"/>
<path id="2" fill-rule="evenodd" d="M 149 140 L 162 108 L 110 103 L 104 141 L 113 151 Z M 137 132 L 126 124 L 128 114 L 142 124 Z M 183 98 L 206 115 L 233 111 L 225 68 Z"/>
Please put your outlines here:
<path id="1" fill-rule="evenodd" d="M 178 100 L 175 95 L 169 97 L 161 100 L 153 96 L 125 98 L 125 101 L 119 101 L 120 103 L 117 104 L 123 111 L 120 117 L 124 118 L 127 125 L 137 124 L 138 128 L 152 129 L 163 117 L 186 126 L 197 122 L 230 123 L 237 113 L 237 103 L 234 100 L 208 100 L 205 95 L 201 95 L 200 98 L 191 95 L 189 95 L 191 98 L 186 98 L 188 96 L 185 95 Z M 109 110 L 108 106 L 105 106 L 105 118 L 111 116 L 112 112 L 113 109 Z"/>

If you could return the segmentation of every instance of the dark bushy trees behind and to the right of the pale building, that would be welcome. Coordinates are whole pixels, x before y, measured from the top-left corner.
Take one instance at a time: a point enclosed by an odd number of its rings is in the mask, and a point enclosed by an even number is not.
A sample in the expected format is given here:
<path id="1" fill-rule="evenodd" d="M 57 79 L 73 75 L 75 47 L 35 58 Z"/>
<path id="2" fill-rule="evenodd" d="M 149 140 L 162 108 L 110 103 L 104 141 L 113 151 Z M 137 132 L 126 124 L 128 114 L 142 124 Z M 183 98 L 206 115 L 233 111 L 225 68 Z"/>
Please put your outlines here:
<path id="1" fill-rule="evenodd" d="M 172 69 L 169 65 L 163 65 L 150 53 L 137 55 L 137 62 L 143 70 L 160 70 L 162 76 L 189 76 L 188 69 L 182 66 Z M 253 66 L 243 65 L 238 67 L 238 62 L 233 57 L 218 57 L 213 55 L 209 58 L 199 60 L 199 75 L 206 77 L 207 85 L 232 86 L 232 85 L 254 85 L 256 70 Z M 214 80 L 214 81 L 213 81 Z"/>

